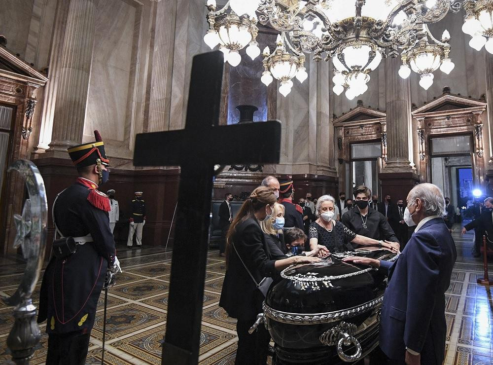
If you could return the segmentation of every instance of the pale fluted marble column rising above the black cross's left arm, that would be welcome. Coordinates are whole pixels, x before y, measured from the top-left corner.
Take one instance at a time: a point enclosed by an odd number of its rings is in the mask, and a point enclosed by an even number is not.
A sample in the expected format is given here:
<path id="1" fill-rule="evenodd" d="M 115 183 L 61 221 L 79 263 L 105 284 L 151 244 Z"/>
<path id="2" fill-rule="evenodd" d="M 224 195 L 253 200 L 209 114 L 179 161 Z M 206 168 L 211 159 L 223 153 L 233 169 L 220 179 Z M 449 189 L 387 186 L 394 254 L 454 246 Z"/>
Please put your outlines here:
<path id="1" fill-rule="evenodd" d="M 154 51 L 150 69 L 151 89 L 147 112 L 149 132 L 169 129 L 176 5 L 177 0 L 160 1 L 156 4 Z"/>

